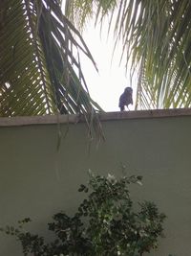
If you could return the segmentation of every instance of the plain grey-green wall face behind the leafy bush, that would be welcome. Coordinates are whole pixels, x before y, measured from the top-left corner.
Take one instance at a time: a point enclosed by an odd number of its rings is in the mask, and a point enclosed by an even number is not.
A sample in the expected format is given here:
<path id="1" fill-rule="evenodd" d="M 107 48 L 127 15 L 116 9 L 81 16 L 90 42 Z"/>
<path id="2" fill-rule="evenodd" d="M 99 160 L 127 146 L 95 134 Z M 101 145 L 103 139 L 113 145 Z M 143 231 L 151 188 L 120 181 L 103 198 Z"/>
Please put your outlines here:
<path id="1" fill-rule="evenodd" d="M 43 234 L 54 213 L 74 212 L 81 199 L 77 188 L 86 182 L 88 169 L 121 175 L 123 164 L 130 175 L 143 175 L 143 186 L 134 188 L 133 196 L 154 200 L 167 215 L 166 238 L 151 255 L 190 256 L 191 116 L 175 112 L 173 117 L 161 117 L 166 111 L 152 117 L 151 112 L 139 112 L 139 118 L 106 114 L 106 141 L 98 147 L 93 142 L 90 151 L 83 123 L 60 126 L 59 152 L 56 124 L 1 127 L 0 226 L 31 217 L 32 229 Z M 4 121 L 0 125 L 5 126 Z M 6 126 L 12 125 L 9 122 Z M 0 233 L 0 256 L 21 255 L 20 245 Z"/>

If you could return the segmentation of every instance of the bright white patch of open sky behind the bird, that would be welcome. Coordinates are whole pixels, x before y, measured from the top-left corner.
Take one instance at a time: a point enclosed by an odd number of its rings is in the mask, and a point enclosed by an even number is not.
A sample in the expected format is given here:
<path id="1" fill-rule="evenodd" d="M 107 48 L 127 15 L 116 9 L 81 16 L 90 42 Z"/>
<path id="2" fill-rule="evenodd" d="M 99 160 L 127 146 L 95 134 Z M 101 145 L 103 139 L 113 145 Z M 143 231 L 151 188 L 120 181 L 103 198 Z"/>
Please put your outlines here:
<path id="1" fill-rule="evenodd" d="M 93 58 L 96 60 L 98 73 L 88 58 L 81 56 L 81 65 L 84 77 L 87 81 L 91 97 L 105 111 L 118 111 L 118 99 L 124 88 L 130 86 L 129 74 L 126 74 L 125 63 L 119 65 L 122 46 L 118 46 L 112 60 L 114 39 L 113 35 L 107 39 L 107 26 L 100 35 L 100 29 L 88 24 L 88 28 L 82 34 Z M 133 81 L 132 87 L 136 87 Z M 135 103 L 136 90 L 134 90 Z M 135 105 L 129 105 L 133 110 Z"/>

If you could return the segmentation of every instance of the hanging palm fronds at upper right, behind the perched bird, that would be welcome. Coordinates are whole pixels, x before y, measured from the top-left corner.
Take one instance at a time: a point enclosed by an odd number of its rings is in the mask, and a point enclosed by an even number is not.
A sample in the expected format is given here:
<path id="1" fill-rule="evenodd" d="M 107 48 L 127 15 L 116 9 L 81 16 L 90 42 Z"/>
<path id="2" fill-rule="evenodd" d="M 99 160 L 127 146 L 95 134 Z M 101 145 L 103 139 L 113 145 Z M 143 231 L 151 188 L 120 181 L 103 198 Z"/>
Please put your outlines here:
<path id="1" fill-rule="evenodd" d="M 190 0 L 67 0 L 65 7 L 80 26 L 109 18 L 131 75 L 138 72 L 137 108 L 191 106 Z"/>

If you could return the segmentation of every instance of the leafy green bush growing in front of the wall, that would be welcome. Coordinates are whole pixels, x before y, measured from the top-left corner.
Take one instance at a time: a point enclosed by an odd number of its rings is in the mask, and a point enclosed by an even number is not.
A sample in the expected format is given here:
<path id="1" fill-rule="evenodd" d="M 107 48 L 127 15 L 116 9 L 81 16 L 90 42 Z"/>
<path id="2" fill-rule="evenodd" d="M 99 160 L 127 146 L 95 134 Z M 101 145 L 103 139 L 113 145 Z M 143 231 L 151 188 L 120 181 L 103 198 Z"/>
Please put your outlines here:
<path id="1" fill-rule="evenodd" d="M 55 235 L 50 244 L 43 237 L 24 231 L 23 224 L 30 219 L 19 221 L 18 228 L 7 226 L 1 230 L 16 236 L 25 256 L 141 256 L 158 247 L 165 219 L 154 202 L 135 205 L 130 197 L 129 186 L 140 184 L 141 179 L 135 175 L 117 179 L 114 175 L 90 174 L 88 185 L 78 189 L 87 197 L 74 216 L 60 212 L 48 224 Z"/>

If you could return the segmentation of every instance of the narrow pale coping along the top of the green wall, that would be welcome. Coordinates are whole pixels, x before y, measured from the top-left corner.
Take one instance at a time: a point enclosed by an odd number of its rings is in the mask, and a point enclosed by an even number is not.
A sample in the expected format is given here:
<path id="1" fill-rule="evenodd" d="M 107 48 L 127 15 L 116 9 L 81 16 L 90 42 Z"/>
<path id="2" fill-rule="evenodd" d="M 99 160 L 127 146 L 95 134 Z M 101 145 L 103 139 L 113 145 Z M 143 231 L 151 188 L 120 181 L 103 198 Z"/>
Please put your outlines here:
<path id="1" fill-rule="evenodd" d="M 123 112 L 103 112 L 99 113 L 100 121 L 117 121 L 124 119 L 151 119 L 166 117 L 191 116 L 191 108 L 154 109 Z M 20 127 L 31 125 L 51 125 L 51 124 L 76 124 L 84 123 L 85 119 L 81 115 L 45 115 L 45 116 L 16 116 L 1 117 L 0 127 Z"/>

